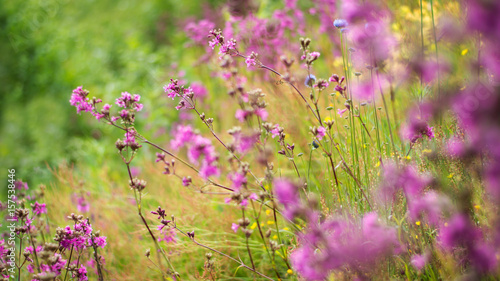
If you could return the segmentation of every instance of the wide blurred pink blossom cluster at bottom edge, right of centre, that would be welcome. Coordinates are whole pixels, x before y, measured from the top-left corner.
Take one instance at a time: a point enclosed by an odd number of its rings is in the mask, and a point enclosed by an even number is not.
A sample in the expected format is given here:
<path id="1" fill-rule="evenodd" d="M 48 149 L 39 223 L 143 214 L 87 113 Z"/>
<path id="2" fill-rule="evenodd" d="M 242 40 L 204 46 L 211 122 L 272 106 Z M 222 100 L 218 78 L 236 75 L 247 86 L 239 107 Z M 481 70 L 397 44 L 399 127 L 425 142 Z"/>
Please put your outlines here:
<path id="1" fill-rule="evenodd" d="M 293 267 L 307 280 L 324 280 L 331 271 L 351 267 L 369 272 L 378 260 L 401 252 L 396 229 L 368 213 L 360 225 L 341 220 L 312 223 L 292 252 Z"/>

